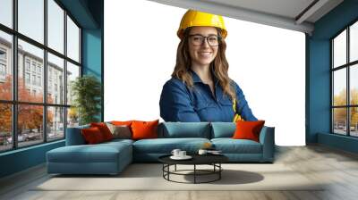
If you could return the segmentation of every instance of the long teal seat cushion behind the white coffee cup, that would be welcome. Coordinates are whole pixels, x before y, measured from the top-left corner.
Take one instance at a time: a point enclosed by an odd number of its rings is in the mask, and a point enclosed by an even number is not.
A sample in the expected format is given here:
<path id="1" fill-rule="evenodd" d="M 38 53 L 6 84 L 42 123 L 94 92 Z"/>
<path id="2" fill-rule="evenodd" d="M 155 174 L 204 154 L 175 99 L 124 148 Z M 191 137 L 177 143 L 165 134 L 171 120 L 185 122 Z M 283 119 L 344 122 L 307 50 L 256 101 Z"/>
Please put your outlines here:
<path id="1" fill-rule="evenodd" d="M 133 143 L 133 152 L 134 154 L 171 154 L 173 149 L 179 148 L 193 154 L 206 142 L 210 142 L 209 139 L 193 137 L 141 139 Z"/>

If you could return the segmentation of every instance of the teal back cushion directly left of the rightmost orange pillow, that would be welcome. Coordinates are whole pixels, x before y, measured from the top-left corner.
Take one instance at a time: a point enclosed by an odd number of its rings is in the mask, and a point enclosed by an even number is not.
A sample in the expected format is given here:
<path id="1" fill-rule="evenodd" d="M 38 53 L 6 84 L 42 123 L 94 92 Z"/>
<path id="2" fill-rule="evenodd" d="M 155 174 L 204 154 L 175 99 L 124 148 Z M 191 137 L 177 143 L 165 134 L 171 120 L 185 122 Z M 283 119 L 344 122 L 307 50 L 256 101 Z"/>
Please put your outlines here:
<path id="1" fill-rule="evenodd" d="M 235 129 L 234 122 L 211 122 L 211 138 L 233 137 Z"/>

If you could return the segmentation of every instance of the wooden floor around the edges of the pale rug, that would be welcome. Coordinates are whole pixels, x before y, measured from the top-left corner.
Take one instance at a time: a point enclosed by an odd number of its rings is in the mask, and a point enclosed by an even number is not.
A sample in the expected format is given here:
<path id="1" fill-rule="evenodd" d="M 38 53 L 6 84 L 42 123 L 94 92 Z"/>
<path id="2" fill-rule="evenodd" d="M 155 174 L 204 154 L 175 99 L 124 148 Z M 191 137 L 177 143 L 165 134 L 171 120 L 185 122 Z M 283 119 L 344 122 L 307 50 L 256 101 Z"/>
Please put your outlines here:
<path id="1" fill-rule="evenodd" d="M 31 191 L 41 179 L 48 179 L 42 165 L 0 180 L 0 199 L 358 199 L 358 155 L 325 146 L 280 146 L 276 155 L 275 163 L 284 163 L 312 181 L 325 180 L 328 184 L 320 191 Z"/>

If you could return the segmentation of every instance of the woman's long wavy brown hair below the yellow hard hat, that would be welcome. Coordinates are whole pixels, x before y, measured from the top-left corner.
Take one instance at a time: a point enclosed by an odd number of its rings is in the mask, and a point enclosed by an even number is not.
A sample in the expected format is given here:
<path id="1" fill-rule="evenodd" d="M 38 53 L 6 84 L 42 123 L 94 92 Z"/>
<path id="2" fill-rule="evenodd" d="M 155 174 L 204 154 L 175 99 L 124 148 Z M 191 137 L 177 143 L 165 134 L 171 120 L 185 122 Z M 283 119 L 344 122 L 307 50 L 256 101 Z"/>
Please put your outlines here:
<path id="1" fill-rule="evenodd" d="M 189 54 L 189 33 L 192 28 L 189 27 L 184 30 L 183 38 L 178 45 L 176 51 L 176 64 L 172 73 L 172 77 L 183 80 L 184 84 L 190 88 L 194 86 L 192 81 L 192 75 L 190 72 L 192 66 L 192 58 Z M 221 29 L 217 29 L 217 34 L 221 37 Z M 235 92 L 234 86 L 232 86 L 232 80 L 229 78 L 227 71 L 229 64 L 226 60 L 226 42 L 225 39 L 221 39 L 217 49 L 217 56 L 214 61 L 210 63 L 210 70 L 213 71 L 214 76 L 218 79 L 219 85 L 223 88 L 224 94 L 234 99 Z"/>

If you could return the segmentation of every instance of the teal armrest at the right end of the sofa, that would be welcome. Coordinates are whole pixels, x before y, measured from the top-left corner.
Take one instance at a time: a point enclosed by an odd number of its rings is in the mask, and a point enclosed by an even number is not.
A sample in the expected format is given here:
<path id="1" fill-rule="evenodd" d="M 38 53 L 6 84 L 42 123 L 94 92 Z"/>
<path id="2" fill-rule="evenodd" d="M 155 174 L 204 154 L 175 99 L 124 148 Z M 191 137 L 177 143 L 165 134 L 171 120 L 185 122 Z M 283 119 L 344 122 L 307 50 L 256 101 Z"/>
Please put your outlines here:
<path id="1" fill-rule="evenodd" d="M 260 144 L 262 145 L 262 160 L 273 162 L 275 155 L 275 127 L 263 127 L 260 132 Z"/>

